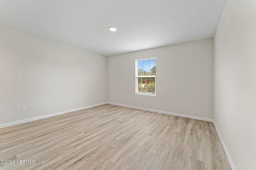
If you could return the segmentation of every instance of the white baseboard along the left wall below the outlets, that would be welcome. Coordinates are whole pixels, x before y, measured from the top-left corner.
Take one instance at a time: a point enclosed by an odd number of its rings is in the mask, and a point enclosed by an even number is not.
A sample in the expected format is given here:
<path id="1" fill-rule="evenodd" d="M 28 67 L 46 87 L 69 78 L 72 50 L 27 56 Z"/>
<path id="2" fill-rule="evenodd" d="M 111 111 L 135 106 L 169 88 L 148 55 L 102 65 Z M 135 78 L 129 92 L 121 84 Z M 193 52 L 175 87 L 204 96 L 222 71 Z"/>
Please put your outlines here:
<path id="1" fill-rule="evenodd" d="M 56 116 L 56 115 L 62 115 L 62 114 L 65 114 L 65 113 L 70 113 L 70 112 L 78 111 L 78 110 L 82 110 L 82 109 L 88 109 L 90 107 L 100 106 L 100 105 L 104 105 L 104 104 L 107 104 L 107 102 L 100 103 L 100 104 L 94 104 L 94 105 L 91 105 L 91 106 L 80 107 L 80 108 L 71 109 L 71 110 L 66 110 L 66 111 L 60 111 L 60 112 L 57 112 L 57 113 L 52 113 L 52 114 L 48 114 L 48 115 L 42 115 L 42 116 L 38 116 L 38 117 L 32 117 L 32 118 L 29 118 L 29 119 L 13 121 L 13 122 L 10 122 L 10 123 L 4 123 L 4 124 L 0 125 L 0 128 L 12 126 L 12 125 L 18 125 L 18 124 L 26 123 L 26 122 L 29 122 L 29 121 L 44 119 L 44 118 L 52 117 L 52 116 Z"/>

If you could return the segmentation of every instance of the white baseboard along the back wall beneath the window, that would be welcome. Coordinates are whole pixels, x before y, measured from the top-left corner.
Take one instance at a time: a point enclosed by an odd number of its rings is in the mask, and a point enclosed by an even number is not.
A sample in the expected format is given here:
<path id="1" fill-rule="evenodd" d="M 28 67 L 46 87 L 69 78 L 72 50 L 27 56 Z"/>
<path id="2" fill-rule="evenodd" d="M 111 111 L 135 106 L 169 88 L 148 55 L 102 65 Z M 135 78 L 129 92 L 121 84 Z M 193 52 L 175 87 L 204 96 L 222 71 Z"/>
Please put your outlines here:
<path id="1" fill-rule="evenodd" d="M 130 108 L 133 108 L 133 109 L 140 109 L 140 110 L 145 110 L 145 111 L 152 111 L 152 112 L 156 112 L 156 113 L 162 113 L 162 114 L 166 114 L 166 115 L 173 115 L 173 116 L 179 116 L 179 117 L 186 117 L 186 118 L 190 118 L 190 119 L 197 119 L 197 120 L 202 120 L 202 121 L 213 122 L 213 119 L 208 119 L 208 118 L 204 118 L 204 117 L 182 115 L 182 114 L 179 114 L 179 113 L 172 113 L 172 112 L 160 111 L 160 110 L 154 110 L 154 109 L 146 109 L 146 108 L 142 108 L 142 107 L 128 106 L 128 105 L 124 105 L 124 104 L 116 104 L 116 103 L 111 103 L 111 102 L 107 102 L 107 103 L 112 104 L 112 105 L 116 105 L 116 106 L 130 107 Z"/>

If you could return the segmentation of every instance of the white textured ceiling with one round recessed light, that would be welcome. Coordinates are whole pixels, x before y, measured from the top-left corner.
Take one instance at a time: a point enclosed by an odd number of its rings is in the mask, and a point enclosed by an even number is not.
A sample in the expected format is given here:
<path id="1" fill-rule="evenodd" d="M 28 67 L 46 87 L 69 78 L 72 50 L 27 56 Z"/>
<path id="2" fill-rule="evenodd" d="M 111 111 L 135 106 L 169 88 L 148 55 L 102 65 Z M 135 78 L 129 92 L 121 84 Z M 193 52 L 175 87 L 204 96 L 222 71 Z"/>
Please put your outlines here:
<path id="1" fill-rule="evenodd" d="M 213 37 L 225 3 L 0 0 L 0 25 L 110 56 Z"/>

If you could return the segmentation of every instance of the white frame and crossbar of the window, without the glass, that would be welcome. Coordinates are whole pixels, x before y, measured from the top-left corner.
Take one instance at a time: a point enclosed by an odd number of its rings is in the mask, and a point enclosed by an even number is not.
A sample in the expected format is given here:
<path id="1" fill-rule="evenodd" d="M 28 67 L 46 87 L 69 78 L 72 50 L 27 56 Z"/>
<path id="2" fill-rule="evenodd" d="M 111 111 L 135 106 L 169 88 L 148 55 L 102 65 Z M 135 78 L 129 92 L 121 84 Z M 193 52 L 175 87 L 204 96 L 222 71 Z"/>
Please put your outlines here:
<path id="1" fill-rule="evenodd" d="M 138 61 L 149 60 L 149 59 L 156 59 L 156 57 L 150 57 L 150 58 L 143 58 L 143 59 L 136 59 L 135 60 L 135 94 L 145 95 L 145 96 L 156 96 L 156 75 L 155 76 L 138 76 Z M 138 92 L 138 78 L 148 78 L 148 77 L 154 77 L 155 78 L 155 94 L 148 94 L 148 93 Z"/>

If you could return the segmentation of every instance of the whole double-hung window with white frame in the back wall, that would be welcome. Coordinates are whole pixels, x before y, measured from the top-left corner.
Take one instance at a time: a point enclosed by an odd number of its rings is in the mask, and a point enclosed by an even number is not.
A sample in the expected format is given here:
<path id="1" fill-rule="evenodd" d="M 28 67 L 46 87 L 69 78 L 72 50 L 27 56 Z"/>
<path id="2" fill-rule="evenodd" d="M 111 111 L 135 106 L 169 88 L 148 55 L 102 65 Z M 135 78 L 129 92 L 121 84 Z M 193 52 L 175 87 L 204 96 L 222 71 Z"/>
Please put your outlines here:
<path id="1" fill-rule="evenodd" d="M 156 58 L 138 59 L 135 65 L 135 93 L 156 96 Z"/>

